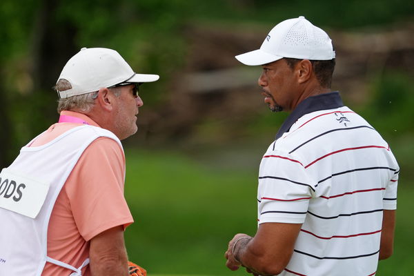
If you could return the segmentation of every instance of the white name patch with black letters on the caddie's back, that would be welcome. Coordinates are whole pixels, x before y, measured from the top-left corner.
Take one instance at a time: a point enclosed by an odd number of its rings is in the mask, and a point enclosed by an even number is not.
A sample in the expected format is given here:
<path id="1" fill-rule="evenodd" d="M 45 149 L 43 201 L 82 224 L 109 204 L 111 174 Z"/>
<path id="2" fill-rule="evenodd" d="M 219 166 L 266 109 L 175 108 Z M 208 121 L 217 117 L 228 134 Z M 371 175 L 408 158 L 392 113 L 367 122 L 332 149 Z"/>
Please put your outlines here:
<path id="1" fill-rule="evenodd" d="M 0 172 L 0 208 L 34 219 L 43 206 L 49 186 L 3 168 Z"/>

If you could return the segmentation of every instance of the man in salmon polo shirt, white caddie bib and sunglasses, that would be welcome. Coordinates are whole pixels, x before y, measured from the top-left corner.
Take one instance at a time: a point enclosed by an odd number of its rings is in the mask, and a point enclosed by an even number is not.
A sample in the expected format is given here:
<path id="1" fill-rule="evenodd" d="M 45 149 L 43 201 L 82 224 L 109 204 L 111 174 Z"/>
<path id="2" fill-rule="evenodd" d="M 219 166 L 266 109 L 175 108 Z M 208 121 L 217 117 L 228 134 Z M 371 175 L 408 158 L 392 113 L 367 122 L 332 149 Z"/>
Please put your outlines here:
<path id="1" fill-rule="evenodd" d="M 82 48 L 56 84 L 59 122 L 0 173 L 0 275 L 142 275 L 124 230 L 121 139 L 137 132 L 141 83 L 115 50 Z M 133 274 L 135 273 L 135 274 Z"/>

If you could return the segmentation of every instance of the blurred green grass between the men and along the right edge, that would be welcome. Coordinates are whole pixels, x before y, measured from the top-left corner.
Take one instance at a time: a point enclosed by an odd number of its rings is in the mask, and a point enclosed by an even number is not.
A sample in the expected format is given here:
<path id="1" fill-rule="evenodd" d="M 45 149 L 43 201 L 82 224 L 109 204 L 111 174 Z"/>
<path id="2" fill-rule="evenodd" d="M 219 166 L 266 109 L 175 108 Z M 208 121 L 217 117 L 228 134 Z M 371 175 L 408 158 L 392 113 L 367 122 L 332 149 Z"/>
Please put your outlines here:
<path id="1" fill-rule="evenodd" d="M 405 137 L 391 143 L 402 168 L 395 252 L 380 262 L 377 275 L 406 276 L 414 269 L 412 141 Z M 170 150 L 126 150 L 126 199 L 135 223 L 125 237 L 133 262 L 153 276 L 247 275 L 243 269 L 228 270 L 224 259 L 235 233 L 254 235 L 257 228 L 255 198 L 262 152 L 250 148 L 258 155 L 252 157 L 242 148 L 208 148 L 191 157 Z M 239 166 L 230 166 L 230 157 Z"/>

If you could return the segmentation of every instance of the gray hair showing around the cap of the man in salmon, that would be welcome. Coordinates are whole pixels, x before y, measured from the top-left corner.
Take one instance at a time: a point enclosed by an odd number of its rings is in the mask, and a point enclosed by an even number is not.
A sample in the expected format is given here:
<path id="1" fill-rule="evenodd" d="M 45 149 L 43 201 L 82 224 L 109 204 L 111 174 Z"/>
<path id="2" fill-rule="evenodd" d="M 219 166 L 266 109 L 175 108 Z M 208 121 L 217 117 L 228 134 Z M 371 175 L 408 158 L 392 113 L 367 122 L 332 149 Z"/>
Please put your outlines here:
<path id="1" fill-rule="evenodd" d="M 59 79 L 57 81 L 55 90 L 65 91 L 72 88 L 70 82 L 66 79 Z M 119 88 L 110 88 L 116 97 L 121 95 Z M 76 95 L 68 98 L 61 98 L 57 104 L 57 112 L 60 113 L 62 110 L 71 110 L 81 113 L 88 113 L 95 106 L 95 99 L 98 97 L 98 91 L 90 92 L 82 95 Z"/>

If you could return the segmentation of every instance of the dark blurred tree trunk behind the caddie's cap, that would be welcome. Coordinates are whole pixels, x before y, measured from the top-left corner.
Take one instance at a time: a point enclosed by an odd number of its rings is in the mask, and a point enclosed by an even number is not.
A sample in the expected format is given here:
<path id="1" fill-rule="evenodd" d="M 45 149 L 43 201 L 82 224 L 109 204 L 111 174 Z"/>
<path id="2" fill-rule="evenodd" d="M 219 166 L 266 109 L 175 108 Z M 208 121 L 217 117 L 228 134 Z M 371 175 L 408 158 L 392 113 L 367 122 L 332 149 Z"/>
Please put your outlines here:
<path id="1" fill-rule="evenodd" d="M 39 2 L 28 49 L 31 59 L 29 72 L 33 80 L 32 91 L 26 97 L 26 103 L 30 106 L 26 110 L 26 115 L 30 115 L 27 118 L 30 136 L 43 131 L 57 117 L 57 96 L 52 92 L 52 86 L 68 57 L 77 52 L 77 26 L 68 19 L 57 19 L 58 10 L 66 4 L 65 1 Z"/>

